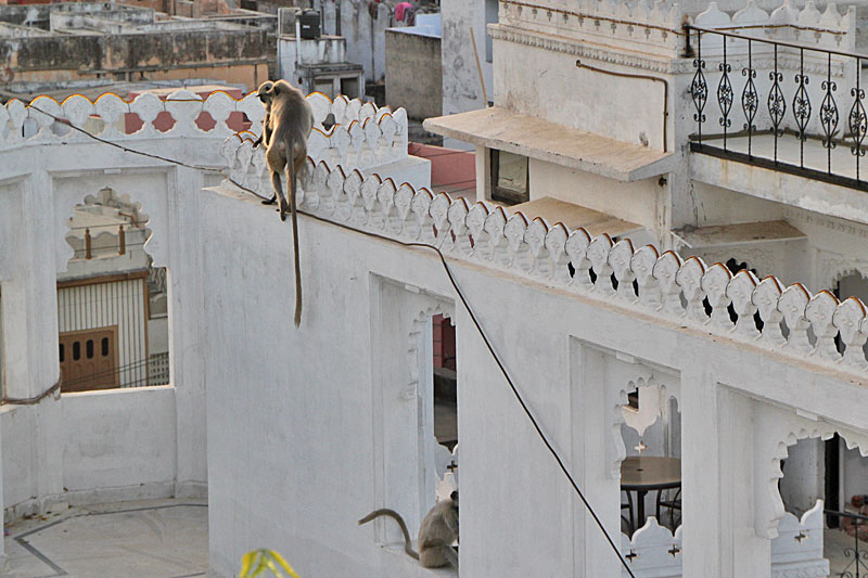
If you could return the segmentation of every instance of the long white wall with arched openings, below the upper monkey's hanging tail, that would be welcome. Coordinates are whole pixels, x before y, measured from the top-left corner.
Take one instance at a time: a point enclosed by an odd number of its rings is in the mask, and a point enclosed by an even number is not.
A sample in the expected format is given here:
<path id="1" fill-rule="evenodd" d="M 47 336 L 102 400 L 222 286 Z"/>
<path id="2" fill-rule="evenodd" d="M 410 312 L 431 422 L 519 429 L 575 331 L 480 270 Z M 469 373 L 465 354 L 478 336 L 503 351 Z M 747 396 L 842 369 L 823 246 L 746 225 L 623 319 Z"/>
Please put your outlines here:
<path id="1" fill-rule="evenodd" d="M 327 175 L 318 168 L 314 182 L 331 182 Z M 388 202 L 394 193 L 381 188 L 380 203 L 350 213 L 350 197 L 340 191 L 336 183 L 305 189 L 302 208 L 316 207 L 323 217 L 390 236 L 429 235 L 424 226 L 413 226 L 417 217 L 423 224 L 427 214 L 397 218 L 391 207 L 401 203 L 397 196 L 395 205 Z M 423 314 L 444 303 L 456 304 L 458 381 L 472 384 L 460 388 L 458 400 L 461 571 L 621 574 L 434 255 L 303 216 L 305 309 L 296 330 L 291 291 L 290 298 L 275 300 L 272 285 L 260 282 L 267 277 L 273 286 L 292 287 L 290 248 L 272 243 L 285 235 L 285 224 L 239 193 L 203 194 L 204 217 L 221 223 L 205 231 L 215 251 L 205 258 L 204 277 L 226 275 L 227 259 L 243 264 L 206 295 L 207 317 L 217 327 L 208 332 L 205 348 L 217 575 L 238 571 L 240 555 L 264 540 L 302 574 L 406 575 L 408 560 L 379 548 L 399 540 L 394 526 L 358 528 L 355 519 L 374 508 L 393 506 L 414 521 L 424 503 L 414 474 L 424 451 L 413 429 L 418 397 L 400 327 L 409 326 L 408 311 Z M 738 330 L 718 333 L 727 323 L 719 313 L 694 325 L 675 310 L 669 317 L 637 309 L 629 299 L 607 297 L 608 281 L 587 291 L 562 286 L 557 269 L 554 278 L 547 277 L 549 261 L 523 253 L 522 241 L 501 246 L 501 254 L 495 249 L 489 260 L 485 243 L 497 242 L 477 231 L 476 249 L 470 253 L 462 244 L 462 206 L 436 201 L 430 213 L 442 223 L 455 278 L 609 531 L 618 536 L 615 472 L 625 453 L 615 434 L 621 396 L 640 377 L 648 383 L 654 376 L 673 388 L 681 412 L 684 576 L 770 576 L 771 538 L 783 516 L 777 464 L 797 439 L 827 437 L 835 429 L 863 451 L 868 448 L 868 421 L 861 404 L 854 403 L 868 391 L 861 370 L 827 365 L 819 354 L 792 356 L 770 345 L 769 351 L 740 337 Z M 228 235 L 230 224 L 218 218 L 227 213 L 233 215 L 231 227 L 250 231 L 243 240 Z M 447 214 L 449 224 L 438 220 Z M 526 239 L 534 235 L 528 232 Z M 679 274 L 685 291 L 691 286 L 685 277 L 690 268 Z M 703 281 L 710 291 L 711 279 Z M 688 300 L 699 303 L 695 293 L 690 295 Z M 701 306 L 692 310 L 691 316 L 699 314 Z M 231 337 L 230 329 L 235 332 Z M 272 352 L 273 343 L 280 344 L 279 355 Z M 328 363 L 320 361 L 324 352 Z M 794 390 L 793 384 L 802 385 Z M 247 451 L 252 447 L 261 451 Z M 335 544 L 342 555 L 334 554 Z"/>

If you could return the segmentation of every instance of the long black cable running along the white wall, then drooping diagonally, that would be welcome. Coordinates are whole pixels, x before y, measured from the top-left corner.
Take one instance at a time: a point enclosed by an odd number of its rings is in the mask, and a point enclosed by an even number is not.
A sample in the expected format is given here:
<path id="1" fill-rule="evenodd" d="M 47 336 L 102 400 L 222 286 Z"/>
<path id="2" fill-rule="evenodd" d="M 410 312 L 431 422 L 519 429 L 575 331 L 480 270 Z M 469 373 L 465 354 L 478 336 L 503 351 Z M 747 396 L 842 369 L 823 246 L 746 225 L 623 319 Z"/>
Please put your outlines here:
<path id="1" fill-rule="evenodd" d="M 46 113 L 44 111 L 40 111 L 39 108 L 34 106 L 33 104 L 30 104 L 28 106 L 30 108 L 36 110 L 37 112 L 40 112 L 40 113 L 51 117 L 51 118 L 54 118 L 55 120 L 60 120 L 56 116 L 51 115 L 49 113 Z M 215 168 L 209 168 L 209 167 L 196 166 L 196 165 L 188 165 L 187 163 L 181 163 L 180 160 L 175 160 L 174 158 L 166 158 L 166 157 L 163 157 L 163 156 L 159 156 L 159 155 L 145 153 L 143 151 L 137 151 L 135 149 L 128 149 L 127 146 L 123 146 L 123 145 L 117 144 L 115 142 L 102 139 L 100 137 L 97 137 L 95 134 L 91 134 L 87 130 L 85 130 L 82 128 L 79 128 L 79 127 L 76 127 L 75 125 L 69 125 L 69 126 L 72 128 L 78 130 L 79 132 L 82 132 L 84 134 L 90 137 L 91 139 L 93 139 L 95 141 L 99 141 L 99 142 L 101 142 L 103 144 L 107 144 L 110 146 L 114 146 L 116 149 L 120 149 L 126 153 L 138 154 L 138 155 L 146 156 L 146 157 L 150 157 L 150 158 L 155 158 L 155 159 L 158 159 L 158 160 L 164 160 L 164 162 L 170 163 L 173 165 L 187 167 L 187 168 L 193 168 L 193 169 L 199 169 L 199 170 L 209 170 L 209 171 L 214 171 L 214 172 L 219 172 L 219 174 L 224 175 L 224 177 L 226 177 L 226 179 L 229 182 L 231 182 L 232 184 L 234 184 L 235 187 L 238 187 L 242 191 L 251 193 L 254 196 L 257 196 L 257 197 L 259 197 L 261 200 L 267 200 L 267 197 L 260 195 L 256 191 L 253 191 L 252 189 L 247 189 L 246 187 L 235 182 L 232 178 L 226 176 L 221 170 L 218 170 L 218 169 L 215 169 Z M 459 181 L 459 182 L 465 182 L 465 181 Z M 353 232 L 356 232 L 356 233 L 360 233 L 360 234 L 363 234 L 363 235 L 367 235 L 367 236 L 379 239 L 381 241 L 386 241 L 388 243 L 394 243 L 394 244 L 403 245 L 403 246 L 406 246 L 406 247 L 426 248 L 426 249 L 430 249 L 430 251 L 434 251 L 437 254 L 437 256 L 441 259 L 441 264 L 443 265 L 443 268 L 446 271 L 447 277 L 449 278 L 449 283 L 452 285 L 452 288 L 455 288 L 456 294 L 461 299 L 461 303 L 463 304 L 464 308 L 467 309 L 468 313 L 470 314 L 470 319 L 473 321 L 473 324 L 476 326 L 476 331 L 480 333 L 480 336 L 482 337 L 483 342 L 485 343 L 485 347 L 488 349 L 488 352 L 492 354 L 492 357 L 494 358 L 495 362 L 497 363 L 497 367 L 500 369 L 500 372 L 503 374 L 503 377 L 506 377 L 507 383 L 510 386 L 510 389 L 512 389 L 512 393 L 515 396 L 515 399 L 519 401 L 519 404 L 521 404 L 522 410 L 524 410 L 524 413 L 527 415 L 527 419 L 531 420 L 531 423 L 533 424 L 534 429 L 536 429 L 536 433 L 542 439 L 542 444 L 545 444 L 546 448 L 549 450 L 551 455 L 554 458 L 554 461 L 558 462 L 558 466 L 561 468 L 561 472 L 563 472 L 563 474 L 570 480 L 570 484 L 573 486 L 573 489 L 576 491 L 578 497 L 582 499 L 582 503 L 584 503 L 585 508 L 588 510 L 588 512 L 590 512 L 590 515 L 593 517 L 593 522 L 597 523 L 597 526 L 600 528 L 600 531 L 602 531 L 603 536 L 605 536 L 605 540 L 609 542 L 609 545 L 612 547 L 612 550 L 615 552 L 615 554 L 617 555 L 617 558 L 621 561 L 621 564 L 624 566 L 624 569 L 627 570 L 627 574 L 630 576 L 630 578 L 636 578 L 636 575 L 633 574 L 633 570 L 630 569 L 629 565 L 627 564 L 627 561 L 624 560 L 624 556 L 621 553 L 621 549 L 617 545 L 615 545 L 615 542 L 612 540 L 612 537 L 609 536 L 609 532 L 607 531 L 607 529 L 603 526 L 602 522 L 600 522 L 600 518 L 597 516 L 597 513 L 593 511 L 593 508 L 591 508 L 590 503 L 585 498 L 585 494 L 582 492 L 582 489 L 578 487 L 578 484 L 576 484 L 576 480 L 573 479 L 572 474 L 570 473 L 570 471 L 564 465 L 563 461 L 561 460 L 561 457 L 558 454 L 558 451 L 551 445 L 551 442 L 549 441 L 548 437 L 546 437 L 546 434 L 542 432 L 542 428 L 537 423 L 536 418 L 534 418 L 534 414 L 531 412 L 529 408 L 527 407 L 527 403 L 525 403 L 524 399 L 522 398 L 521 394 L 519 393 L 519 389 L 515 387 L 515 384 L 513 383 L 512 377 L 510 377 L 509 372 L 507 372 L 507 368 L 503 365 L 502 361 L 500 361 L 500 357 L 495 351 L 494 346 L 492 346 L 492 342 L 488 341 L 488 336 L 485 334 L 485 331 L 482 329 L 482 325 L 480 324 L 480 321 L 476 318 L 476 314 L 473 312 L 473 309 L 470 307 L 470 303 L 468 301 L 467 297 L 464 296 L 464 293 L 458 286 L 458 282 L 456 281 L 455 275 L 452 274 L 452 270 L 449 267 L 449 264 L 446 262 L 446 257 L 443 255 L 441 249 L 438 247 L 434 246 L 434 245 L 429 245 L 427 243 L 399 241 L 397 239 L 392 239 L 392 237 L 388 237 L 388 236 L 385 236 L 385 235 L 381 235 L 381 234 L 378 234 L 378 233 L 372 233 L 372 232 L 369 232 L 369 231 L 363 231 L 361 229 L 356 229 L 355 227 L 350 227 L 348 224 L 344 224 L 344 223 L 341 223 L 341 222 L 332 221 L 330 219 L 326 219 L 323 217 L 319 217 L 317 215 L 312 215 L 310 213 L 307 213 L 307 211 L 304 211 L 304 210 L 301 210 L 301 209 L 298 209 L 297 213 L 299 213 L 301 215 L 305 215 L 307 217 L 310 217 L 311 219 L 318 220 L 320 222 L 333 224 L 335 227 L 340 227 L 341 229 L 345 229 L 345 230 L 353 231 Z"/>

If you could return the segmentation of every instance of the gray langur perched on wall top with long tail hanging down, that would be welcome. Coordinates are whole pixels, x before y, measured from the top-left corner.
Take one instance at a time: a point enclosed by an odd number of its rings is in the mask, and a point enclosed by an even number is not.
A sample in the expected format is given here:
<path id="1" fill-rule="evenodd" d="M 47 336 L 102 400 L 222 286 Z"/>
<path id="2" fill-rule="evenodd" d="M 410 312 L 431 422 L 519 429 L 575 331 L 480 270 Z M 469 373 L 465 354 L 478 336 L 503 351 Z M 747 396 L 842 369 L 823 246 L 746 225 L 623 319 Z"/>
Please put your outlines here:
<path id="1" fill-rule="evenodd" d="M 265 106 L 266 117 L 263 134 L 268 169 L 271 171 L 271 185 L 275 200 L 280 207 L 280 220 L 286 220 L 286 211 L 292 214 L 292 240 L 295 256 L 295 326 L 302 322 L 302 269 L 298 261 L 298 221 L 295 215 L 296 180 L 304 170 L 307 159 L 307 138 L 314 129 L 314 108 L 301 90 L 285 80 L 266 81 L 259 86 L 259 100 Z M 283 196 L 280 174 L 286 170 L 286 192 L 289 203 Z"/>

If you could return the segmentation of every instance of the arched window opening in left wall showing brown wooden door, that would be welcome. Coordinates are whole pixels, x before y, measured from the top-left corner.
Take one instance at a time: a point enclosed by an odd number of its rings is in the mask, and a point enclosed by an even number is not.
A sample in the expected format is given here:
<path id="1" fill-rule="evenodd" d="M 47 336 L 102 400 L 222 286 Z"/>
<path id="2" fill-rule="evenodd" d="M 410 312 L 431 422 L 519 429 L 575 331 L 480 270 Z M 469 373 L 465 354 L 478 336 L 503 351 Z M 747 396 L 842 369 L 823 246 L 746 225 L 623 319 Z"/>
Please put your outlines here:
<path id="1" fill-rule="evenodd" d="M 73 256 L 58 275 L 63 393 L 169 383 L 166 268 L 144 249 L 141 208 L 106 188 L 67 220 Z"/>

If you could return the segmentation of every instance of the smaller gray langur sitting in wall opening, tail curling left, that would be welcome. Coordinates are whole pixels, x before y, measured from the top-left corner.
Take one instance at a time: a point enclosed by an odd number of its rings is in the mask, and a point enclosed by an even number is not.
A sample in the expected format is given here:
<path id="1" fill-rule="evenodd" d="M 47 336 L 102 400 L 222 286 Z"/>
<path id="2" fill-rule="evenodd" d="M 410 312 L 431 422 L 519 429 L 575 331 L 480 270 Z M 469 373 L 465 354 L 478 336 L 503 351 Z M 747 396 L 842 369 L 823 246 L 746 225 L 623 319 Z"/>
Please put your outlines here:
<path id="1" fill-rule="evenodd" d="M 458 540 L 458 491 L 432 508 L 419 526 L 419 552 L 410 542 L 410 532 L 400 514 L 387 508 L 374 510 L 359 521 L 359 525 L 380 516 L 388 516 L 398 523 L 404 532 L 404 551 L 419 561 L 423 568 L 437 568 L 451 564 L 458 567 L 458 552 L 452 542 Z"/>

